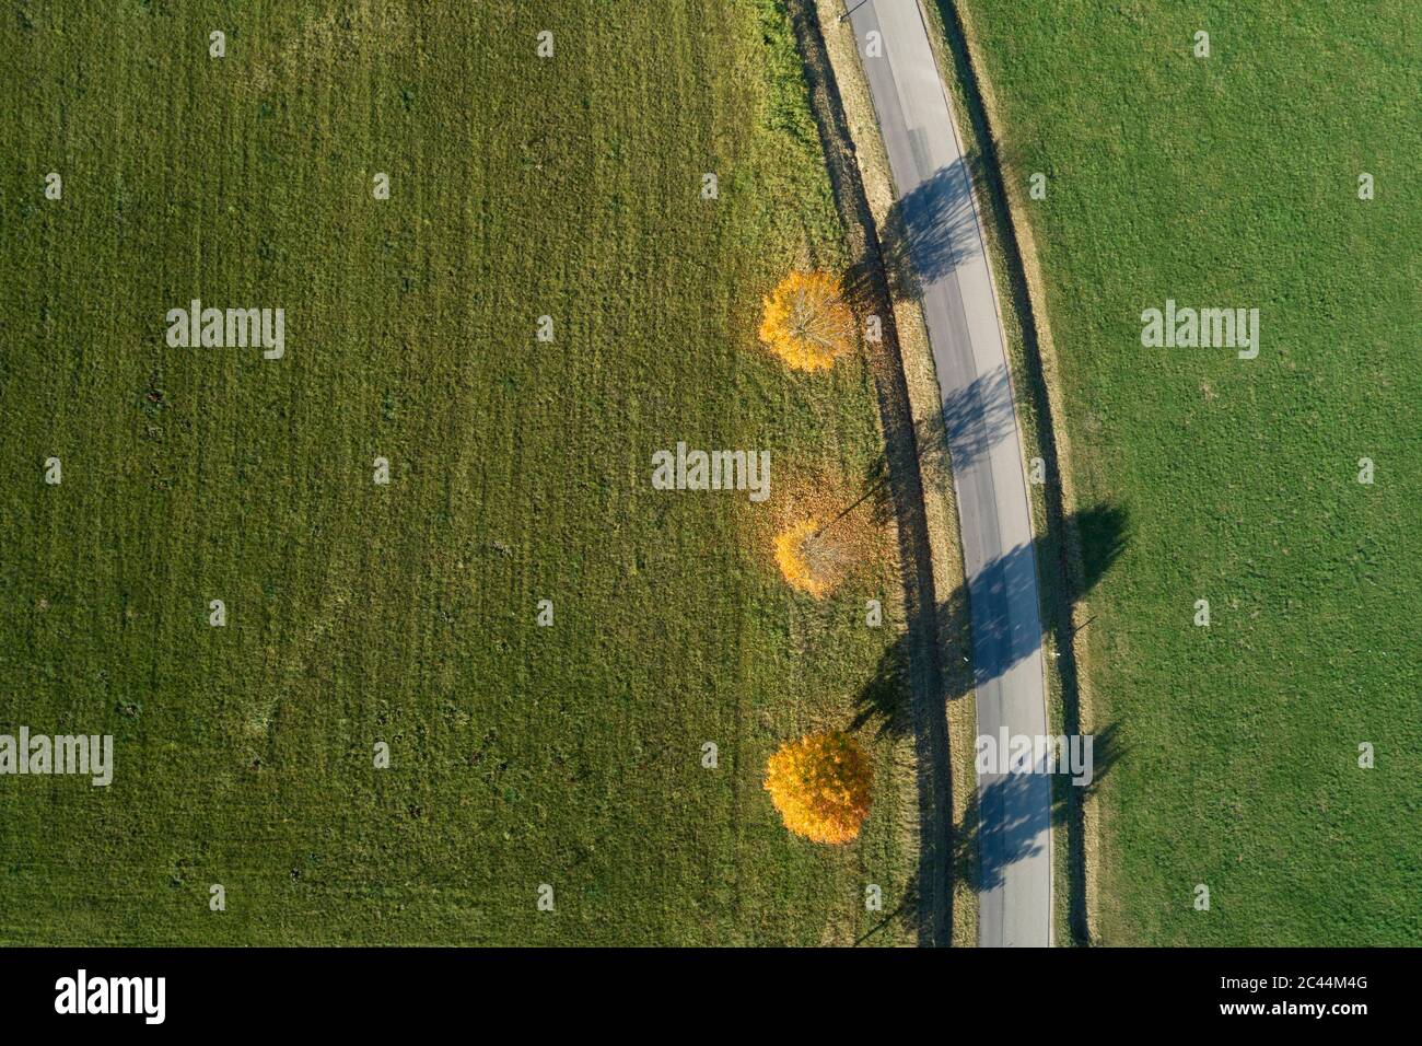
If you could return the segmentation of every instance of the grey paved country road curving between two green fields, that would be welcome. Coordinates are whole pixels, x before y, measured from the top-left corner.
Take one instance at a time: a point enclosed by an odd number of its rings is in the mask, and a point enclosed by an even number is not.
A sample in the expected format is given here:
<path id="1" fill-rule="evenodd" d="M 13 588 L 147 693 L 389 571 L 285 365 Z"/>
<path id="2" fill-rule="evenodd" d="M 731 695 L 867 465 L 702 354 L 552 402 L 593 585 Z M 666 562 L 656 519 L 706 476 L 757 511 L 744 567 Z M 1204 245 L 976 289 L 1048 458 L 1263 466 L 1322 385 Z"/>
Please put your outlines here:
<path id="1" fill-rule="evenodd" d="M 1037 561 L 1007 347 L 919 0 L 848 0 L 939 370 L 963 532 L 980 737 L 1047 734 Z M 875 36 L 877 34 L 877 36 Z M 978 944 L 1051 944 L 1051 783 L 978 776 Z"/>

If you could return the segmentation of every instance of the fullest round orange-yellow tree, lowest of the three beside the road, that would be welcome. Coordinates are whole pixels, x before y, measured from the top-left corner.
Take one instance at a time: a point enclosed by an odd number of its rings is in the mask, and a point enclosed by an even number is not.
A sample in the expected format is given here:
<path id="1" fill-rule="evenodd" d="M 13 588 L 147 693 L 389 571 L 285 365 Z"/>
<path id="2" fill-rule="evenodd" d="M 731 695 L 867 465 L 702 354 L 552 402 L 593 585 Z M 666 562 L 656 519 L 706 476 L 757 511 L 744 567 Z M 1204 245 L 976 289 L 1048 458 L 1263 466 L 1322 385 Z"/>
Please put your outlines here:
<path id="1" fill-rule="evenodd" d="M 869 815 L 873 768 L 840 730 L 786 741 L 765 764 L 765 790 L 785 827 L 813 842 L 850 842 Z"/>

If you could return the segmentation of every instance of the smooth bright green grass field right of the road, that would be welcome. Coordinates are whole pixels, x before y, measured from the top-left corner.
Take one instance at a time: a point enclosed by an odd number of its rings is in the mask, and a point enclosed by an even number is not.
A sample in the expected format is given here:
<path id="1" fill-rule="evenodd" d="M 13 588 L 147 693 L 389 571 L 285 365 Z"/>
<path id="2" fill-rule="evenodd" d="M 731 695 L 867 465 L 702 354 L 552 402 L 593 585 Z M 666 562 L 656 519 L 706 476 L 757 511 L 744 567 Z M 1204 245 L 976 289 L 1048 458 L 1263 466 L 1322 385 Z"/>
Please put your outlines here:
<path id="1" fill-rule="evenodd" d="M 1122 750 L 1099 935 L 1416 945 L 1422 13 L 964 7 L 1005 176 L 1048 176 L 1025 208 L 1076 501 L 1130 519 L 1084 615 Z M 1258 357 L 1142 347 L 1167 297 L 1258 307 Z"/>

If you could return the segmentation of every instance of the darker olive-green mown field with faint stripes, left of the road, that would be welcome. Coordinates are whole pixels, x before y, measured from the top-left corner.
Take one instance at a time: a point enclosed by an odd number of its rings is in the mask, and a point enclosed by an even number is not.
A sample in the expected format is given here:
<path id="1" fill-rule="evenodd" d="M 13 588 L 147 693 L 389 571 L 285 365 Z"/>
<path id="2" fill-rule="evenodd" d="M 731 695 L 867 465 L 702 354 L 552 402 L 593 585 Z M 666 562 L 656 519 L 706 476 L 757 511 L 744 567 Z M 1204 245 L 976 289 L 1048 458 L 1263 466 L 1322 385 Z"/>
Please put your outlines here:
<path id="1" fill-rule="evenodd" d="M 0 777 L 0 941 L 823 944 L 883 921 L 866 884 L 899 907 L 903 741 L 862 731 L 875 811 L 849 847 L 789 837 L 761 790 L 778 743 L 850 719 L 894 640 L 865 599 L 897 605 L 887 564 L 815 603 L 769 562 L 793 490 L 819 475 L 852 500 L 880 454 L 860 360 L 796 377 L 755 346 L 785 270 L 842 260 L 774 3 L 30 3 L 0 16 L 0 733 L 115 736 L 108 788 Z M 1402 213 L 1338 221 L 1401 236 Z M 284 359 L 169 349 L 165 313 L 193 297 L 284 307 Z M 1386 333 L 1355 346 L 1379 383 L 1394 370 L 1362 346 Z M 1298 354 L 1338 359 L 1331 340 Z M 1256 387 L 1229 380 L 1226 410 Z M 1285 509 L 1371 525 L 1359 555 L 1392 593 L 1399 435 L 1379 411 L 1404 391 L 1359 393 L 1337 447 L 1372 450 L 1379 487 L 1318 460 L 1328 514 Z M 678 440 L 768 448 L 764 511 L 653 491 L 650 455 Z M 1257 591 L 1236 586 L 1246 613 Z M 1351 613 L 1349 591 L 1297 628 Z M 1402 625 L 1375 628 L 1367 679 L 1310 692 L 1313 714 L 1362 729 L 1406 700 L 1385 653 Z M 1341 659 L 1364 642 L 1325 635 Z M 1396 767 L 1402 737 L 1375 740 Z M 1374 817 L 1338 794 L 1335 817 Z M 893 922 L 872 944 L 903 939 Z"/>

